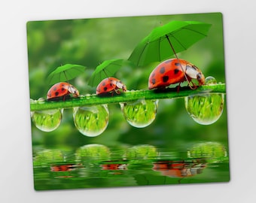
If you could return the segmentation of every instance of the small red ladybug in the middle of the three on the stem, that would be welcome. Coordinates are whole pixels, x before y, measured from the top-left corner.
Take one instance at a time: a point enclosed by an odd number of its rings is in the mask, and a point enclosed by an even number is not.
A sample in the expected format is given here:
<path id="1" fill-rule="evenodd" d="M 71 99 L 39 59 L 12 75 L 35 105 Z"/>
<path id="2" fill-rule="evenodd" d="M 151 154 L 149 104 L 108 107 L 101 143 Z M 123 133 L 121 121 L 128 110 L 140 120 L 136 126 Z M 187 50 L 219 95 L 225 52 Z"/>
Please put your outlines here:
<path id="1" fill-rule="evenodd" d="M 105 95 L 116 92 L 118 95 L 121 91 L 126 92 L 126 86 L 120 80 L 114 77 L 107 77 L 102 80 L 96 88 L 96 95 Z"/>

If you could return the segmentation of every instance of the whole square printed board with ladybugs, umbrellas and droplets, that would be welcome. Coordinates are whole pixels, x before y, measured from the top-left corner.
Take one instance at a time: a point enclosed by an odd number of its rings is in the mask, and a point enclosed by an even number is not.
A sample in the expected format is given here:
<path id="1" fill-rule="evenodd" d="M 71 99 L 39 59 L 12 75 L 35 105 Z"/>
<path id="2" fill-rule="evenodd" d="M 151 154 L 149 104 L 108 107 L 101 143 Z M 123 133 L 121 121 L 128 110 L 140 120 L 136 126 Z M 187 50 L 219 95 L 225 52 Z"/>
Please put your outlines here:
<path id="1" fill-rule="evenodd" d="M 221 13 L 26 26 L 36 190 L 230 180 Z"/>

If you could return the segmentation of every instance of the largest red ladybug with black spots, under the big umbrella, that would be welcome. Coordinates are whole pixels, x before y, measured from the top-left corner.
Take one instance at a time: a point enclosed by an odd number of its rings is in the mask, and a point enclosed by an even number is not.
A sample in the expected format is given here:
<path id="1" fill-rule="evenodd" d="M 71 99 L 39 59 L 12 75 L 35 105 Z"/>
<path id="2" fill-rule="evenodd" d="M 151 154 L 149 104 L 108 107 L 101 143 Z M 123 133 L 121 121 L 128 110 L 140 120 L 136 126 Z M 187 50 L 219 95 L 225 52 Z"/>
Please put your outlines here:
<path id="1" fill-rule="evenodd" d="M 190 86 L 191 89 L 196 89 L 197 85 L 192 82 L 192 79 L 198 80 L 199 86 L 205 83 L 205 77 L 197 66 L 183 59 L 167 59 L 151 72 L 148 78 L 148 89 L 163 89 L 175 83 L 179 83 L 179 88 L 185 80 L 189 86 L 190 82 L 193 84 L 193 87 Z"/>

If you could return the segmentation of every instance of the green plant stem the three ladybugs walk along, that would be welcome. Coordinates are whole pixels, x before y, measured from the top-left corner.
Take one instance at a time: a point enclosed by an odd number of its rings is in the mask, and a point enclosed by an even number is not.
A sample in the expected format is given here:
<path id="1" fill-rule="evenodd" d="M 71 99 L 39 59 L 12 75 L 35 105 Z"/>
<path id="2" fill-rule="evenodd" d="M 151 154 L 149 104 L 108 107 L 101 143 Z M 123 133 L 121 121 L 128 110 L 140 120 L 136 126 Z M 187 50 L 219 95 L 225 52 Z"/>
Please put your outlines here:
<path id="1" fill-rule="evenodd" d="M 58 108 L 74 108 L 86 105 L 104 105 L 120 102 L 133 102 L 141 98 L 145 99 L 164 99 L 164 98 L 183 98 L 189 95 L 198 95 L 209 92 L 226 93 L 226 85 L 224 83 L 204 85 L 197 89 L 189 89 L 181 87 L 179 92 L 176 88 L 166 88 L 157 90 L 135 90 L 123 92 L 120 95 L 81 95 L 79 98 L 71 98 L 66 101 L 48 102 L 48 101 L 33 101 L 30 104 L 30 111 L 43 111 Z"/>

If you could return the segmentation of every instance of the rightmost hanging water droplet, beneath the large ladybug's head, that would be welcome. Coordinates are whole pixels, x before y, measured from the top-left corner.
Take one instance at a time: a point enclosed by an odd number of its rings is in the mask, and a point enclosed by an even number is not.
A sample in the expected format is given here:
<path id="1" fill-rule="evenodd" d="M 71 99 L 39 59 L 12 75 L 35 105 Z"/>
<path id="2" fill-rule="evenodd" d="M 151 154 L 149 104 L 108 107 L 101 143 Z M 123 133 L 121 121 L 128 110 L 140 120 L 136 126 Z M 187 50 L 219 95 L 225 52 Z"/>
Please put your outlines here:
<path id="1" fill-rule="evenodd" d="M 184 102 L 187 113 L 194 121 L 202 125 L 210 125 L 221 117 L 224 94 L 191 95 L 185 97 Z"/>

